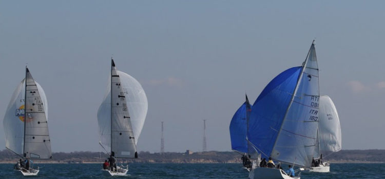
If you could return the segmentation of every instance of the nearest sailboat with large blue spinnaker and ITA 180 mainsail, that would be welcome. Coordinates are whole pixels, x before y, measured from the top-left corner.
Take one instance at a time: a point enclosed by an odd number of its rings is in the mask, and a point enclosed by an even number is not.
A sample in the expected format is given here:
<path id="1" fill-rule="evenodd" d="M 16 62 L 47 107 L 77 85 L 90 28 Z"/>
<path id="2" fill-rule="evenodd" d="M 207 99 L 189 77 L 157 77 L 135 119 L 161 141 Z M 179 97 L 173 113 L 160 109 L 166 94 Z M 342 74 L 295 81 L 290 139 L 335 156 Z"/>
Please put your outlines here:
<path id="1" fill-rule="evenodd" d="M 318 64 L 314 41 L 302 66 L 279 74 L 253 104 L 248 140 L 263 158 L 311 167 L 319 110 Z M 300 178 L 279 168 L 258 167 L 249 178 Z"/>

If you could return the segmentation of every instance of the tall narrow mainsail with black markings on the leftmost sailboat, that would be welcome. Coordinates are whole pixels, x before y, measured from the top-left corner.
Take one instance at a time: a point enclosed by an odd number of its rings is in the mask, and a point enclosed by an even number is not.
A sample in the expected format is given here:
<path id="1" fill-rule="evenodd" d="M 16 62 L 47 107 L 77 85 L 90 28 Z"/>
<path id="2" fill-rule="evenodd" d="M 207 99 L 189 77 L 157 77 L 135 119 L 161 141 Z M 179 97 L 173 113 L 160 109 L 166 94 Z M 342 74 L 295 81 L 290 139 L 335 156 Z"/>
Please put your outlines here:
<path id="1" fill-rule="evenodd" d="M 43 88 L 33 80 L 28 69 L 26 86 L 24 153 L 31 159 L 50 159 L 51 141 L 45 113 L 47 100 Z"/>

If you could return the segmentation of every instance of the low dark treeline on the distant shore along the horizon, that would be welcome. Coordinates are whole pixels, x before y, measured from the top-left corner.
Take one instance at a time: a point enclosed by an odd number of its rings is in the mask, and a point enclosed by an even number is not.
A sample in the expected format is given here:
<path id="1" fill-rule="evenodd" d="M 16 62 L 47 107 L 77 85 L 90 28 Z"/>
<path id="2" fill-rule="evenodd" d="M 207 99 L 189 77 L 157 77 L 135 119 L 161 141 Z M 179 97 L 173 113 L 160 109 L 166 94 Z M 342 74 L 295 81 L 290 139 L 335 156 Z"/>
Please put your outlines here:
<path id="1" fill-rule="evenodd" d="M 103 152 L 53 152 L 52 159 L 40 163 L 102 163 L 108 158 Z M 138 159 L 120 160 L 124 163 L 241 163 L 236 152 L 195 152 L 192 154 L 139 152 Z M 14 163 L 19 158 L 9 150 L 0 151 L 0 162 Z M 325 159 L 332 162 L 385 162 L 385 150 L 342 150 Z"/>

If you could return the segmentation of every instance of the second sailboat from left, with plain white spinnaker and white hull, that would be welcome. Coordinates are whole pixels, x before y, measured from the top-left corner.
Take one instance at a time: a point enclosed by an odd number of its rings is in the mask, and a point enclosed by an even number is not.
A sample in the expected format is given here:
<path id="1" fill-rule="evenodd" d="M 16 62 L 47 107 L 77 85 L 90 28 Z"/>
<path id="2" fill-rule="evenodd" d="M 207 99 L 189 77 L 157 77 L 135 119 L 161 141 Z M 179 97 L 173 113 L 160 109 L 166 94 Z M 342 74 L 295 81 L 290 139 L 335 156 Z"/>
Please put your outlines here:
<path id="1" fill-rule="evenodd" d="M 118 71 L 111 59 L 107 93 L 98 109 L 99 144 L 117 159 L 138 158 L 137 143 L 147 114 L 147 97 L 141 84 Z M 102 170 L 107 176 L 126 175 L 128 165 Z"/>

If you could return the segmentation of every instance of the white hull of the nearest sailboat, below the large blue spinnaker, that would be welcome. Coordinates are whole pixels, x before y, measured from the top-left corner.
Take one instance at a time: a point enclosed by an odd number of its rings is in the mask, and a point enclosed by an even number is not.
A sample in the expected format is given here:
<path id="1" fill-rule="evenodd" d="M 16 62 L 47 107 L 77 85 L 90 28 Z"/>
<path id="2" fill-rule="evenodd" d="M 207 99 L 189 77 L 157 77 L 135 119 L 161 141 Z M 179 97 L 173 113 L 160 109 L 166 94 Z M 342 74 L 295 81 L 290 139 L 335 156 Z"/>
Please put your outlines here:
<path id="1" fill-rule="evenodd" d="M 283 170 L 277 168 L 259 167 L 249 172 L 250 179 L 300 179 L 298 176 L 288 176 Z"/>

